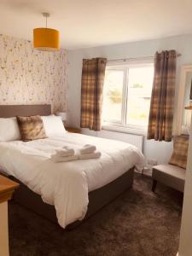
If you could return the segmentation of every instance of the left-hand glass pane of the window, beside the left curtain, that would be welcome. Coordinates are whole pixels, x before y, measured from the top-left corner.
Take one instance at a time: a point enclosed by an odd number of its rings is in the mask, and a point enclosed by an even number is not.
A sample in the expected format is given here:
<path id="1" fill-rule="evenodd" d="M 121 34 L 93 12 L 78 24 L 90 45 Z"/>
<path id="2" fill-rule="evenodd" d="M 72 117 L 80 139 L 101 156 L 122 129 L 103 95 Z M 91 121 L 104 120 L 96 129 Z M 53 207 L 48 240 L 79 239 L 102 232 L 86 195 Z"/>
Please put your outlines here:
<path id="1" fill-rule="evenodd" d="M 103 90 L 102 119 L 121 121 L 124 70 L 106 70 Z"/>

